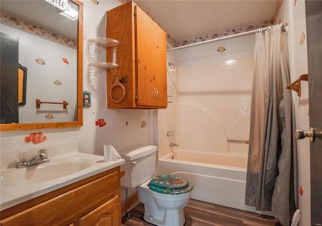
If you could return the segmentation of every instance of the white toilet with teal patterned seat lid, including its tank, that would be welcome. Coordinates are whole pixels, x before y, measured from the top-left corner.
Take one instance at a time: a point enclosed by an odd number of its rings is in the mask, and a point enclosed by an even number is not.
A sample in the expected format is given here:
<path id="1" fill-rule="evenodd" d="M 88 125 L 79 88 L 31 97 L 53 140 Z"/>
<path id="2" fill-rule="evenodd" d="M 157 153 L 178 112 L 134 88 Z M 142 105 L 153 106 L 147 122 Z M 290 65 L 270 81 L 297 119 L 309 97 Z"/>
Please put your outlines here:
<path id="1" fill-rule="evenodd" d="M 185 224 L 183 208 L 188 204 L 192 184 L 180 176 L 155 176 L 156 146 L 137 145 L 118 151 L 125 164 L 121 170 L 121 186 L 137 189 L 144 204 L 143 219 L 155 225 L 182 226 Z"/>

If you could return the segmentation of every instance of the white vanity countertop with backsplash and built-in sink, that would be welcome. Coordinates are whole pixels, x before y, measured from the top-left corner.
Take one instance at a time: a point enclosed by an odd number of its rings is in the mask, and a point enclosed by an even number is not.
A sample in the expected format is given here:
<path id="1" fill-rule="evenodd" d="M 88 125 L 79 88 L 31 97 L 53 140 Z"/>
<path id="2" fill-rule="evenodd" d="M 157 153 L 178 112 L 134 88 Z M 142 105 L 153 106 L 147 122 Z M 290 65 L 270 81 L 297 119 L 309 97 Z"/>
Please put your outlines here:
<path id="1" fill-rule="evenodd" d="M 50 159 L 49 163 L 42 163 L 36 166 L 24 167 L 20 169 L 15 167 L 17 153 L 28 152 L 30 157 L 34 154 L 37 154 L 37 151 L 39 149 L 48 150 L 48 158 Z M 77 142 L 67 142 L 52 146 L 43 146 L 26 150 L 1 153 L 1 210 L 125 163 L 124 159 L 119 158 L 112 158 L 112 161 L 105 162 L 104 156 L 79 153 L 77 150 Z M 66 176 L 49 180 L 40 179 L 43 180 L 41 182 L 30 182 L 31 180 L 28 177 L 33 177 L 35 175 L 37 167 L 46 168 L 49 166 L 51 168 L 47 169 L 50 169 L 57 174 L 58 170 L 56 172 L 55 164 L 61 163 L 62 160 L 63 162 L 69 161 L 69 165 L 72 165 L 70 164 L 70 162 L 72 161 L 77 162 L 84 160 L 90 162 L 91 164 L 81 171 L 70 173 Z M 57 165 L 57 167 L 59 168 L 59 164 Z M 38 172 L 42 172 L 41 170 L 42 169 L 38 170 Z M 50 172 L 51 175 L 55 175 L 55 173 Z M 44 173 L 44 175 L 40 175 L 40 177 L 43 176 L 44 178 L 46 178 L 46 176 L 48 176 L 46 174 L 47 173 Z M 24 175 L 25 178 L 15 178 L 15 175 Z"/>

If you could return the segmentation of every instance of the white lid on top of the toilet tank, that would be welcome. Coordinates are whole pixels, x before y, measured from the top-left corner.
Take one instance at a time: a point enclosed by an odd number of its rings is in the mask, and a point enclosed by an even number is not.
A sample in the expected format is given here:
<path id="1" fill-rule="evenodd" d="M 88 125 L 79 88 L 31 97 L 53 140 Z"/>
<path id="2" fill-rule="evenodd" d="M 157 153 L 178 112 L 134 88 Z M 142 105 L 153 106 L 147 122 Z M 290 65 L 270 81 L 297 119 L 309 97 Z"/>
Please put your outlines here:
<path id="1" fill-rule="evenodd" d="M 118 151 L 122 159 L 136 160 L 156 152 L 157 147 L 153 145 L 135 145 Z"/>

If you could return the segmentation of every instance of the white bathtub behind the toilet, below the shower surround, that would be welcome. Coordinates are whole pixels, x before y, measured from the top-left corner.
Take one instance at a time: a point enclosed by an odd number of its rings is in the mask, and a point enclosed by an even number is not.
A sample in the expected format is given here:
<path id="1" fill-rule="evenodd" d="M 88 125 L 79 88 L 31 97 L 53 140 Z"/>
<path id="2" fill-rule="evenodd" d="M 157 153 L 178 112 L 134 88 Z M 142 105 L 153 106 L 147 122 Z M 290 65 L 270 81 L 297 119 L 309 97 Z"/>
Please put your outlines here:
<path id="1" fill-rule="evenodd" d="M 157 174 L 185 177 L 194 186 L 193 199 L 258 212 L 245 205 L 247 159 L 247 155 L 176 150 L 159 158 Z"/>

